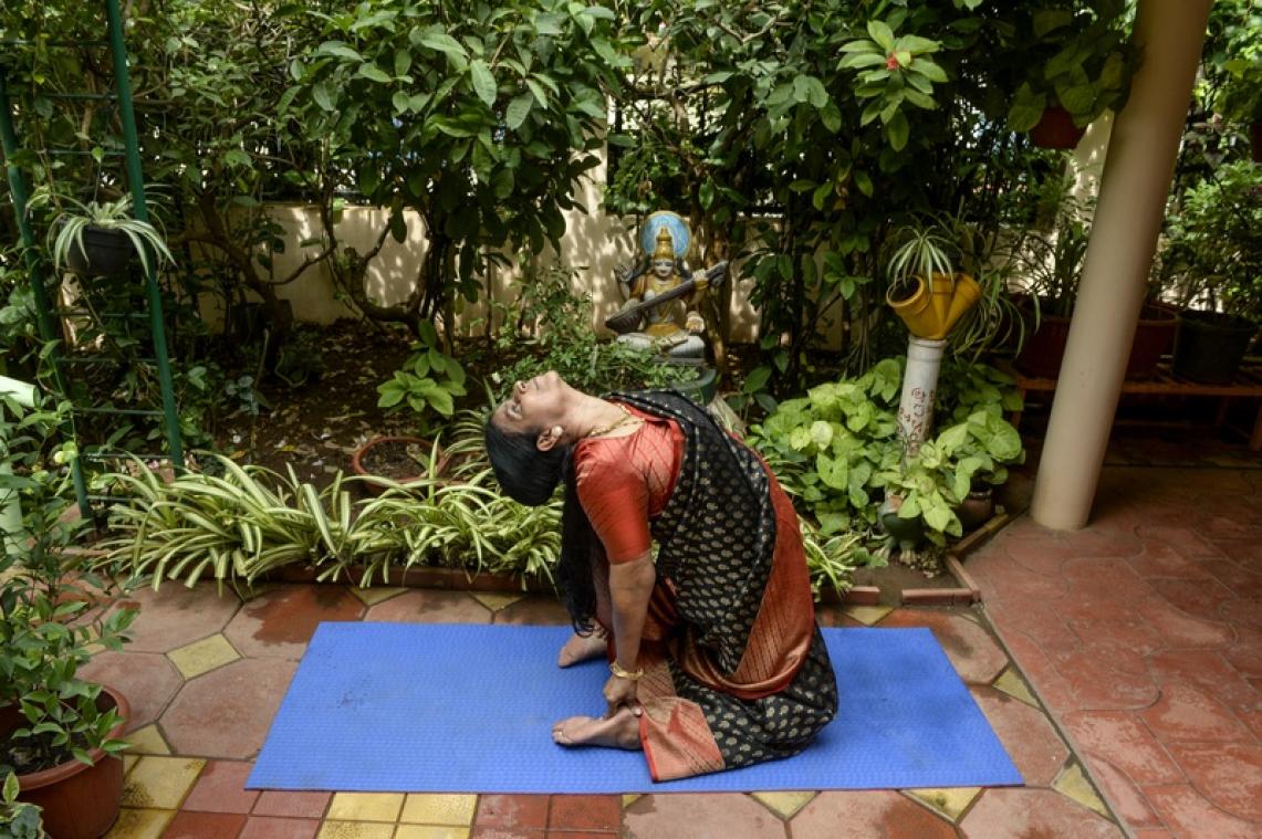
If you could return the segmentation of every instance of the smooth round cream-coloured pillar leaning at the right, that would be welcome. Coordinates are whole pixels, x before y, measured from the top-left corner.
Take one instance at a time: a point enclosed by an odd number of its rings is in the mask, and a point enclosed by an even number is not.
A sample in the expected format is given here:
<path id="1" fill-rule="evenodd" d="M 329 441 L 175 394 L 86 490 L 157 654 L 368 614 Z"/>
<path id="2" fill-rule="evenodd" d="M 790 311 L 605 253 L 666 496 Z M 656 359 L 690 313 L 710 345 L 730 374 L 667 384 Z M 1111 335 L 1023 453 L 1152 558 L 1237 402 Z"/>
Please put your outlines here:
<path id="1" fill-rule="evenodd" d="M 1143 50 L 1113 122 L 1069 343 L 1051 406 L 1031 515 L 1087 524 L 1143 305 L 1213 0 L 1140 0 Z"/>

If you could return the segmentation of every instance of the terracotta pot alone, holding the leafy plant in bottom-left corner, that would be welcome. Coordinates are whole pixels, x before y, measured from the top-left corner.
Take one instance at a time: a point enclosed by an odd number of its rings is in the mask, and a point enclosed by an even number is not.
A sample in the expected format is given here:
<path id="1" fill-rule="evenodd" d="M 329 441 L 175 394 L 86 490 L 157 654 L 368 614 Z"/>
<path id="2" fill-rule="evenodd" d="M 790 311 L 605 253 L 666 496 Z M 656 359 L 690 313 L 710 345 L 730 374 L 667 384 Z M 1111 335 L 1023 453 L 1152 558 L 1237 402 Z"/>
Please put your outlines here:
<path id="1" fill-rule="evenodd" d="M 109 710 L 116 708 L 122 717 L 111 732 L 111 739 L 122 737 L 131 707 L 126 698 L 102 686 L 97 698 L 97 708 Z M 25 718 L 16 707 L 0 709 L 0 734 L 8 736 L 16 728 L 24 728 Z M 71 760 L 40 772 L 19 775 L 18 783 L 21 801 L 43 807 L 44 830 L 53 839 L 97 839 L 119 818 L 122 801 L 122 758 L 110 757 L 101 749 L 90 752 L 92 766 Z"/>

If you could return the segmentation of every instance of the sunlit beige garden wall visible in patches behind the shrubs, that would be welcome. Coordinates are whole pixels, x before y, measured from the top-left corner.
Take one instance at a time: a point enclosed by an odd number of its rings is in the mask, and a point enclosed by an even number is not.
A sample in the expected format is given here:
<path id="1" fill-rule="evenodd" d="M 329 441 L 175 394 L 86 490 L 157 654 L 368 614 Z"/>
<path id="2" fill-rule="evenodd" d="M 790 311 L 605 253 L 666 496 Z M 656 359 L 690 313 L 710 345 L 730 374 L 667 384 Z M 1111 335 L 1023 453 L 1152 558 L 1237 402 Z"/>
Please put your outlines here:
<path id="1" fill-rule="evenodd" d="M 596 304 L 594 324 L 603 329 L 604 318 L 622 304 L 615 269 L 635 257 L 636 235 L 634 222 L 610 216 L 601 209 L 601 197 L 604 183 L 604 164 L 591 173 L 591 178 L 581 183 L 578 203 L 587 212 L 570 211 L 567 216 L 565 237 L 562 241 L 560 259 L 563 264 L 577 270 L 575 290 L 587 291 Z M 273 218 L 289 231 L 288 247 L 275 257 L 271 275 L 288 276 L 307 255 L 319 252 L 318 247 L 299 249 L 298 242 L 319 232 L 319 217 L 314 207 L 273 206 L 269 208 Z M 343 246 L 353 246 L 360 252 L 367 251 L 376 241 L 381 227 L 386 223 L 386 212 L 372 207 L 347 207 L 337 225 L 337 235 Z M 386 237 L 381 252 L 369 267 L 369 294 L 386 305 L 399 303 L 408 296 L 416 278 L 422 257 L 425 252 L 424 227 L 420 218 L 409 212 L 408 238 L 403 242 Z M 540 260 L 555 260 L 557 254 L 548 249 Z M 498 271 L 495 278 L 497 299 L 510 299 L 512 271 Z M 732 338 L 734 341 L 753 341 L 756 338 L 757 318 L 748 304 L 752 281 L 738 284 L 732 302 Z M 299 320 L 331 323 L 338 318 L 355 317 L 355 312 L 341 303 L 334 293 L 333 281 L 326 265 L 308 269 L 300 279 L 278 288 L 283 299 L 292 303 L 294 317 Z M 467 304 L 466 304 L 467 307 Z M 212 324 L 222 323 L 220 303 L 211 296 L 202 302 L 206 318 Z M 458 312 L 457 326 L 468 324 L 483 317 L 481 305 L 472 305 Z"/>

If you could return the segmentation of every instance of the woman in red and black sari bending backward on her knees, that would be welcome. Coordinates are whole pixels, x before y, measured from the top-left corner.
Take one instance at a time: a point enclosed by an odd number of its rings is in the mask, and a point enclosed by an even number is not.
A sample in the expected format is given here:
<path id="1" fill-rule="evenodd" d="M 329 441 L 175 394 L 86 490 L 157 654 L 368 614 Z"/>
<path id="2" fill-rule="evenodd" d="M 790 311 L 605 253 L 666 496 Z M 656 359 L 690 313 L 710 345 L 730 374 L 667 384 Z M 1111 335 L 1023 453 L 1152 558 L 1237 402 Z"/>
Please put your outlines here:
<path id="1" fill-rule="evenodd" d="M 607 713 L 557 723 L 555 742 L 642 748 L 664 781 L 795 754 L 833 718 L 798 515 L 703 409 L 549 372 L 514 386 L 486 443 L 522 503 L 565 482 L 558 588 L 577 632 L 608 638 Z M 562 664 L 592 650 L 573 640 Z"/>

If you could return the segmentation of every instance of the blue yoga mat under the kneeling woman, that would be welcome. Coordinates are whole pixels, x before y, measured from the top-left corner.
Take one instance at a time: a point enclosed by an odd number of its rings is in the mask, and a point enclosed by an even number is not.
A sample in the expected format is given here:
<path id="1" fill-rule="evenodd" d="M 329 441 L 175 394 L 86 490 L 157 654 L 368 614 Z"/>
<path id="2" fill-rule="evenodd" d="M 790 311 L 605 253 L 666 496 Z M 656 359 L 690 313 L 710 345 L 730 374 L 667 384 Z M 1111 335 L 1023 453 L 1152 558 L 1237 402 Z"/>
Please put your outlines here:
<path id="1" fill-rule="evenodd" d="M 654 783 L 644 754 L 564 748 L 604 710 L 602 661 L 557 667 L 568 627 L 322 623 L 250 789 L 736 792 L 1022 783 L 929 630 L 824 630 L 839 708 L 800 754 Z"/>

